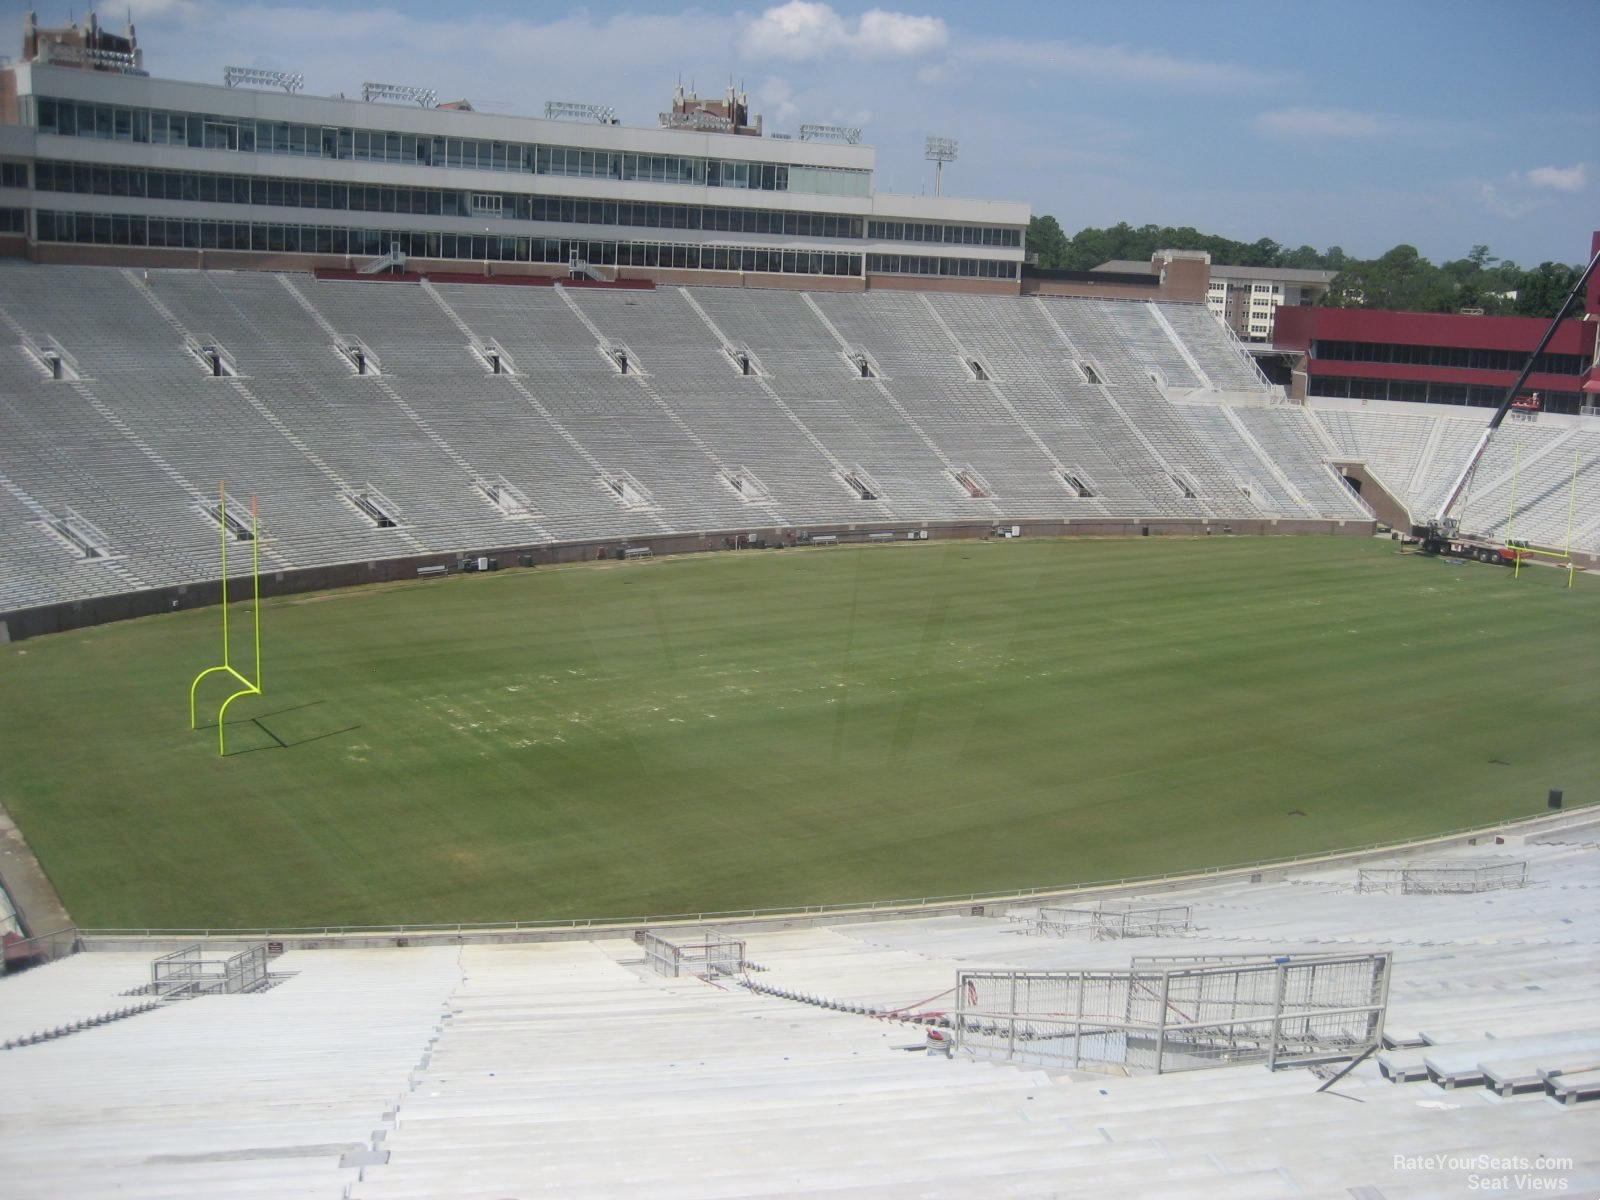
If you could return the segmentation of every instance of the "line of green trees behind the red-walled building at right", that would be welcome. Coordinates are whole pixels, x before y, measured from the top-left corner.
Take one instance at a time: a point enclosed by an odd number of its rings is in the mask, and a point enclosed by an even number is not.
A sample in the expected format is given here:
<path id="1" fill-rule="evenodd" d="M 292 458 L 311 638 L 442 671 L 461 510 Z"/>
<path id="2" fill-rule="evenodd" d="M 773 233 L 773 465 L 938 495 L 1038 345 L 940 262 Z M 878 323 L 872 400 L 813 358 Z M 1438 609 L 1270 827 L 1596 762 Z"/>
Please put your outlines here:
<path id="1" fill-rule="evenodd" d="M 1202 234 L 1190 226 L 1130 226 L 1080 229 L 1067 237 L 1053 216 L 1027 224 L 1027 251 L 1053 270 L 1091 270 L 1110 259 L 1149 262 L 1157 250 L 1205 250 L 1211 261 L 1234 267 L 1298 267 L 1339 272 L 1322 302 L 1342 309 L 1402 309 L 1554 317 L 1582 267 L 1541 262 L 1520 267 L 1499 259 L 1488 246 L 1472 246 L 1466 258 L 1434 264 L 1416 246 L 1398 245 L 1374 259 L 1357 259 L 1341 246 L 1283 246 L 1270 237 L 1235 242 Z"/>

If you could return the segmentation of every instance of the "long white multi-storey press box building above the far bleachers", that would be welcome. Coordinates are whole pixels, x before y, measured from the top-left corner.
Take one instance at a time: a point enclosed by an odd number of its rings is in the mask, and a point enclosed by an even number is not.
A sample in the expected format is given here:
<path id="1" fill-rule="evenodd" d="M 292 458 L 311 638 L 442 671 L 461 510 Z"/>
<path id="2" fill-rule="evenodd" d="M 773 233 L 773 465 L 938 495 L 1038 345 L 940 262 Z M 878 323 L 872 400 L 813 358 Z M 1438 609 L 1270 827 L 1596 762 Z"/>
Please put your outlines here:
<path id="1" fill-rule="evenodd" d="M 859 144 L 0 69 L 8 253 L 1018 291 L 1027 205 L 878 194 L 874 168 Z"/>

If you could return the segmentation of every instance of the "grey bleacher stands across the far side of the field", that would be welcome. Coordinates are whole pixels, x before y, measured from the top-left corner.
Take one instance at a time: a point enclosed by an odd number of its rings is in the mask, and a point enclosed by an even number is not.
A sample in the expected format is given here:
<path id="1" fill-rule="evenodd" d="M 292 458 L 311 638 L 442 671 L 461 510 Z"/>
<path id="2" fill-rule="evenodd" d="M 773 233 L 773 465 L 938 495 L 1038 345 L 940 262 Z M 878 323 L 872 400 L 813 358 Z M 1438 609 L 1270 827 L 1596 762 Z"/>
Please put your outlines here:
<path id="1" fill-rule="evenodd" d="M 213 579 L 219 480 L 261 499 L 283 570 L 880 522 L 1368 520 L 1333 459 L 1422 514 L 1482 429 L 1275 403 L 1184 304 L 26 262 L 0 282 L 0 611 Z M 1515 488 L 1515 536 L 1600 546 L 1597 450 L 1517 427 L 1477 523 L 1506 533 Z"/>

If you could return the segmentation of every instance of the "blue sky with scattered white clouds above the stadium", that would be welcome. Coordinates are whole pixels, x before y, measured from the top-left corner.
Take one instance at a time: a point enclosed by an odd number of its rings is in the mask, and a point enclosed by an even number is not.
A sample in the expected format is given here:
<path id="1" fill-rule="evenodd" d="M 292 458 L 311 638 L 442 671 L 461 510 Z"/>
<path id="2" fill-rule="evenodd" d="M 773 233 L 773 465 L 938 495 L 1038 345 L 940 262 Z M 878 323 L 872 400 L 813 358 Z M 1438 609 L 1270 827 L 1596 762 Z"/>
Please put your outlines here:
<path id="1" fill-rule="evenodd" d="M 45 24 L 69 6 L 40 0 Z M 120 26 L 130 5 L 101 5 Z M 0 53 L 26 5 L 0 0 Z M 480 109 L 613 104 L 653 125 L 682 77 L 749 90 L 768 128 L 862 125 L 880 190 L 931 189 L 923 138 L 960 139 L 946 192 L 1083 226 L 1242 240 L 1486 243 L 1533 266 L 1600 227 L 1595 0 L 835 0 L 781 5 L 134 0 L 155 75 L 301 70 L 312 93 L 419 83 Z"/>

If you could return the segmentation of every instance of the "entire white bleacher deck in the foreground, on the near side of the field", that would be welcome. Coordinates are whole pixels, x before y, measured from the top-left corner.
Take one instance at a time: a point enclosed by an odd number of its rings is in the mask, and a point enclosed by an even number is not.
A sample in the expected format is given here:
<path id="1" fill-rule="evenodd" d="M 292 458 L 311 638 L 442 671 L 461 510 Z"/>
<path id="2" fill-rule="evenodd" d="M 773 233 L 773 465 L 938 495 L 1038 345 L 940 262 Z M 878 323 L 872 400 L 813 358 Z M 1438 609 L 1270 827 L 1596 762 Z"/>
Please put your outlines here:
<path id="1" fill-rule="evenodd" d="M 1566 822 L 1582 816 L 1549 834 Z M 1374 1061 L 1334 1096 L 1302 1070 L 1125 1078 L 930 1058 L 902 1050 L 923 1040 L 914 1026 L 650 974 L 630 938 L 322 949 L 275 960 L 296 974 L 262 995 L 5 1051 L 0 1173 L 27 1200 L 1389 1198 L 1467 1192 L 1470 1168 L 1406 1157 L 1542 1154 L 1570 1162 L 1541 1178 L 1582 1195 L 1600 1187 L 1600 1104 L 1579 1070 L 1597 1037 L 1600 850 L 1522 853 L 1530 886 L 1485 896 L 1357 893 L 1354 866 L 1150 893 L 1192 906 L 1189 938 L 1078 944 L 954 915 L 742 933 L 765 968 L 752 979 L 918 1011 L 949 1005 L 958 966 L 1392 949 L 1392 1018 L 1466 1032 L 1386 1062 L 1416 1059 L 1450 1088 L 1389 1083 Z M 101 1011 L 146 970 L 91 952 L 0 979 L 0 1029 Z"/>

